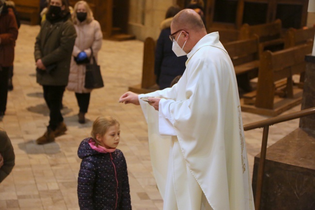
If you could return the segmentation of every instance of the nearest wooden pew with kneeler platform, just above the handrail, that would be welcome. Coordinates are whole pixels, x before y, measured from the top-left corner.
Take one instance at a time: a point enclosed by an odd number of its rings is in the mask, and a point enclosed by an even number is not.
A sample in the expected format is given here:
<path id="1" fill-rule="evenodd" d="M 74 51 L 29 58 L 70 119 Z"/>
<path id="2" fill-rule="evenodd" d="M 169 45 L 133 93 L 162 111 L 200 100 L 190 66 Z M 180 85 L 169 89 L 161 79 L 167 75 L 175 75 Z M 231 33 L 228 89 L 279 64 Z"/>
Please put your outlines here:
<path id="1" fill-rule="evenodd" d="M 304 57 L 312 48 L 307 43 L 276 52 L 265 51 L 260 57 L 257 90 L 241 98 L 242 111 L 276 116 L 299 104 L 302 89 L 293 86 L 292 75 L 305 71 Z M 276 94 L 280 84 L 284 87 L 282 97 Z"/>

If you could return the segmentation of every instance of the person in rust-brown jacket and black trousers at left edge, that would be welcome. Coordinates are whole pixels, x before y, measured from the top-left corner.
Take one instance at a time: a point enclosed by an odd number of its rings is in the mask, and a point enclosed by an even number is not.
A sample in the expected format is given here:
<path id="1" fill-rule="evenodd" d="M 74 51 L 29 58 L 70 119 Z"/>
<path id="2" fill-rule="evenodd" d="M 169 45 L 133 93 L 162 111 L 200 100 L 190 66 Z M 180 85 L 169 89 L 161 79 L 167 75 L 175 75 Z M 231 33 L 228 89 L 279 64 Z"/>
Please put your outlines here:
<path id="1" fill-rule="evenodd" d="M 9 71 L 13 66 L 18 29 L 12 8 L 0 0 L 0 119 L 7 105 Z"/>

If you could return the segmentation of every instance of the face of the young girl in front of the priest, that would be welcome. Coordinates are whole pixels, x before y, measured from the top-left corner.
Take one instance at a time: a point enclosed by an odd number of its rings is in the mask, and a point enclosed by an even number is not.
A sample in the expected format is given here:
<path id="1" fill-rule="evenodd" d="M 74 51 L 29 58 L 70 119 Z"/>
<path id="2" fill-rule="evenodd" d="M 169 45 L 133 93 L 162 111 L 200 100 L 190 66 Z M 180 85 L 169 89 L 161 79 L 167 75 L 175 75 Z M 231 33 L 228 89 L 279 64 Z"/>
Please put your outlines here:
<path id="1" fill-rule="evenodd" d="M 119 138 L 120 129 L 118 124 L 111 126 L 104 136 L 96 134 L 96 139 L 101 143 L 100 145 L 107 149 L 116 148 L 119 144 Z"/>

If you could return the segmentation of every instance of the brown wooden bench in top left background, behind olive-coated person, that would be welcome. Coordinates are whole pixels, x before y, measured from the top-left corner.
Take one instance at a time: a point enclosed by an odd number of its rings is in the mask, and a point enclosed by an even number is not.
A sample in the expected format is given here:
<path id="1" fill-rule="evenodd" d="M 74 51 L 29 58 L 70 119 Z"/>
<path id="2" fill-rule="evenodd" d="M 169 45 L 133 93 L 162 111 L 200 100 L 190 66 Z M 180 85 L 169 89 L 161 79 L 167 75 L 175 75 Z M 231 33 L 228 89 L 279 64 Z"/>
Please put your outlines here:
<path id="1" fill-rule="evenodd" d="M 31 25 L 39 24 L 39 0 L 14 0 L 16 12 L 21 19 L 30 20 Z"/>

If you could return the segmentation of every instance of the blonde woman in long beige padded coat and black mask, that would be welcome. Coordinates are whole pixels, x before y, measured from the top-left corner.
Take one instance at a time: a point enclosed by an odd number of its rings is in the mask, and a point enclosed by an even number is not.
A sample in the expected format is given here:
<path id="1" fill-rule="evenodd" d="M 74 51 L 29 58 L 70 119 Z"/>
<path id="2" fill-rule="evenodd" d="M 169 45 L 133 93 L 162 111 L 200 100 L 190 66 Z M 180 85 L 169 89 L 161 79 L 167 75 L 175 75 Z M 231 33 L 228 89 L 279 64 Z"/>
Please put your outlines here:
<path id="1" fill-rule="evenodd" d="M 86 1 L 80 0 L 76 3 L 72 18 L 78 36 L 72 52 L 67 90 L 76 93 L 80 109 L 79 123 L 85 123 L 84 115 L 88 111 L 92 91 L 92 89 L 84 88 L 85 64 L 90 62 L 92 52 L 97 61 L 97 52 L 102 46 L 103 34 L 99 22 L 94 20 Z"/>

